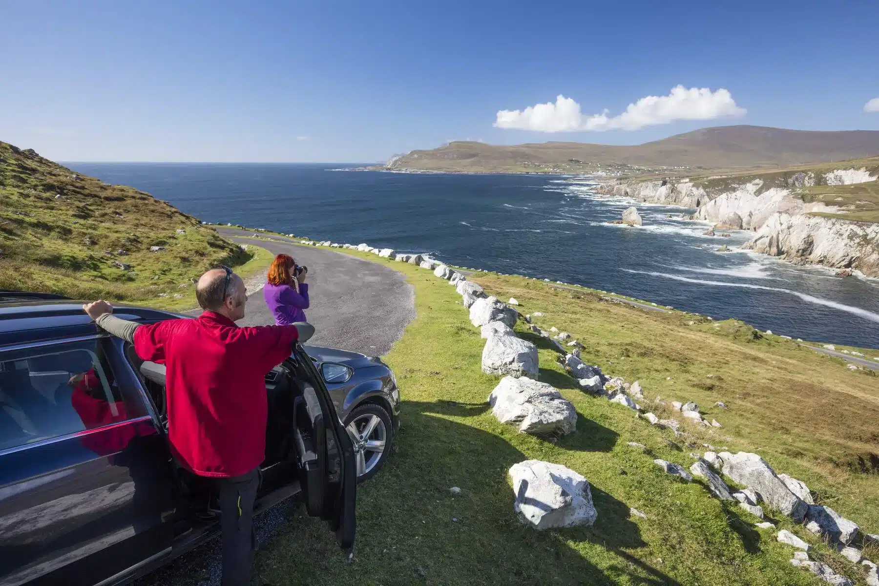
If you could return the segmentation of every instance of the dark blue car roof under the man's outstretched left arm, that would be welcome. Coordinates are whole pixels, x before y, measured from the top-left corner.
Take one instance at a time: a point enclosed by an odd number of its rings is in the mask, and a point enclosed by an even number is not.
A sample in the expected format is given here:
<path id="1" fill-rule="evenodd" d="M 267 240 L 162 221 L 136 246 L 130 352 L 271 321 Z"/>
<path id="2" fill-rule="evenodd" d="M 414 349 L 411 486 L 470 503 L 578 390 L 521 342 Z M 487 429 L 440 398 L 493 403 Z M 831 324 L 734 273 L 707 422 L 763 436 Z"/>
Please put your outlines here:
<path id="1" fill-rule="evenodd" d="M 94 322 L 83 311 L 84 301 L 6 293 L 0 292 L 0 348 L 98 333 Z M 192 317 L 125 303 L 115 304 L 113 315 L 143 323 Z"/>

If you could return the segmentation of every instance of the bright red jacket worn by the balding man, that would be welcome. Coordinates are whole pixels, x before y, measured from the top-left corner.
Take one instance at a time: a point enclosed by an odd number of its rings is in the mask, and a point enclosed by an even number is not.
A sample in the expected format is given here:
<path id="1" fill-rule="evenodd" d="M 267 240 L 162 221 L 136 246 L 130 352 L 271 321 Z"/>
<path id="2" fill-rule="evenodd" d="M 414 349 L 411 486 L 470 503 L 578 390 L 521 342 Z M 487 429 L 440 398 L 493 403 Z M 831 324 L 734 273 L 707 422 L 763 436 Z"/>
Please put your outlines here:
<path id="1" fill-rule="evenodd" d="M 287 358 L 294 326 L 239 328 L 206 311 L 134 330 L 134 350 L 163 363 L 171 452 L 200 476 L 240 476 L 265 459 L 265 373 Z"/>

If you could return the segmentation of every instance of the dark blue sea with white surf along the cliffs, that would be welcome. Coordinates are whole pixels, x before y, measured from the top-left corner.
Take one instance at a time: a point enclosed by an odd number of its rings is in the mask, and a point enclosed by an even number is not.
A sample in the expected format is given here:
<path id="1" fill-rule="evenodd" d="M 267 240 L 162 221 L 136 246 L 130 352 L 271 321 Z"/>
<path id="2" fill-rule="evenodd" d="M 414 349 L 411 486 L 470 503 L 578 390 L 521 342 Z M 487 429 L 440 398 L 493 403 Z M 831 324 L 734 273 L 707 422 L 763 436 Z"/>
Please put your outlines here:
<path id="1" fill-rule="evenodd" d="M 735 250 L 680 207 L 633 205 L 578 177 L 406 174 L 338 164 L 68 163 L 201 220 L 430 252 L 466 267 L 595 287 L 806 340 L 879 348 L 879 279 Z M 669 217 L 671 216 L 671 217 Z M 877 353 L 879 355 L 879 353 Z"/>

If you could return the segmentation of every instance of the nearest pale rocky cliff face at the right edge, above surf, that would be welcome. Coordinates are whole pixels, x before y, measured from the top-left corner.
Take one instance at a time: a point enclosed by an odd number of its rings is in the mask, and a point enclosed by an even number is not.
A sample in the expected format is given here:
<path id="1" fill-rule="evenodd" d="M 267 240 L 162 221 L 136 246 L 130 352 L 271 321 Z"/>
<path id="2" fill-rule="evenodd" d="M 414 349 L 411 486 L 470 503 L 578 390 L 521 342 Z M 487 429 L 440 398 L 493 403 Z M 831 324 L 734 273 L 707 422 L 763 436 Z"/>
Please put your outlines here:
<path id="1" fill-rule="evenodd" d="M 879 224 L 774 213 L 742 248 L 879 277 Z"/>

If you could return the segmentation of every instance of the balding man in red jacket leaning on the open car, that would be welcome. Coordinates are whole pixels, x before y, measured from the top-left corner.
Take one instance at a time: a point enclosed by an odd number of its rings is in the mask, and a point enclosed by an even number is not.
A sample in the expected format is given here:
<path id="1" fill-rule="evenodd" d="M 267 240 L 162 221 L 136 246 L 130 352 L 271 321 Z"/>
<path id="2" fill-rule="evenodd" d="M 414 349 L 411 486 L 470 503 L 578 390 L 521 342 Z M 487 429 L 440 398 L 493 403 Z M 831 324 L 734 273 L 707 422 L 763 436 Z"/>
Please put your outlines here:
<path id="1" fill-rule="evenodd" d="M 215 479 L 222 511 L 222 584 L 250 584 L 253 502 L 265 459 L 265 373 L 279 365 L 307 323 L 239 328 L 247 293 L 229 267 L 207 271 L 198 319 L 151 325 L 113 315 L 100 300 L 83 306 L 101 328 L 134 344 L 144 360 L 164 364 L 171 452 L 193 474 Z"/>

